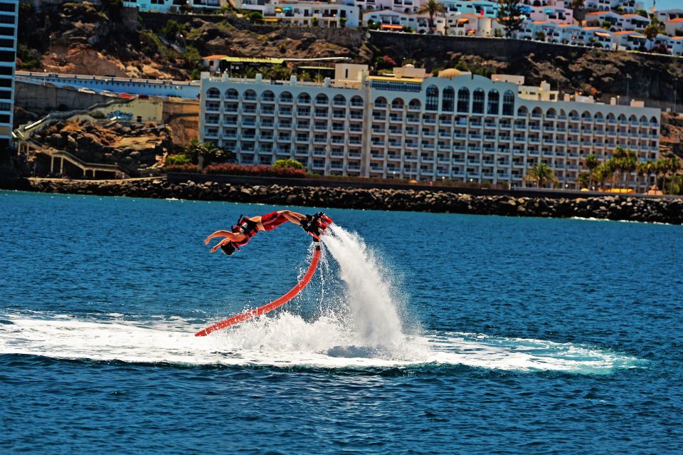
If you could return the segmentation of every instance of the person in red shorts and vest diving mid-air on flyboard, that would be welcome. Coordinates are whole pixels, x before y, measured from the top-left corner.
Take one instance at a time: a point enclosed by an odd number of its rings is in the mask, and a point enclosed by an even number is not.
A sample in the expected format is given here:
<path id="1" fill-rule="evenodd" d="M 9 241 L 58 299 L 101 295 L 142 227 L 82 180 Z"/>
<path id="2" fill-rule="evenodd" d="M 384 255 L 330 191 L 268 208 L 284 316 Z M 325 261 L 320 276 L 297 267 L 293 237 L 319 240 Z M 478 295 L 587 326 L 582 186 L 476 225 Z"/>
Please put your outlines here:
<path id="1" fill-rule="evenodd" d="M 223 253 L 230 256 L 235 250 L 239 250 L 240 246 L 248 244 L 251 238 L 258 234 L 258 231 L 272 231 L 287 221 L 302 226 L 304 231 L 316 238 L 332 223 L 332 219 L 322 212 L 315 215 L 304 215 L 291 210 L 279 210 L 251 218 L 240 216 L 231 231 L 216 231 L 204 239 L 204 244 L 208 245 L 211 239 L 223 237 L 223 240 L 211 248 L 211 253 L 215 253 L 220 248 Z"/>

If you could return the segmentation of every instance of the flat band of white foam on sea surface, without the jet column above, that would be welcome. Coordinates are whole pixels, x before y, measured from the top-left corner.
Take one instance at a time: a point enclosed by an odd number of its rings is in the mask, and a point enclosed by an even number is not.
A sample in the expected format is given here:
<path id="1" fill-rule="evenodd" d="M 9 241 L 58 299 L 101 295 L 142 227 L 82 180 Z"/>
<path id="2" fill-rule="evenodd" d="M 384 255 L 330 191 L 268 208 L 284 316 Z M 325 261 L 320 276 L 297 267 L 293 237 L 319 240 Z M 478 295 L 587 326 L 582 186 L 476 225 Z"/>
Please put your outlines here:
<path id="1" fill-rule="evenodd" d="M 406 337 L 401 351 L 363 346 L 339 321 L 311 323 L 281 313 L 238 328 L 195 337 L 200 327 L 172 323 L 109 323 L 71 317 L 5 317 L 0 354 L 41 355 L 179 365 L 263 365 L 274 367 L 411 367 L 465 365 L 487 370 L 609 374 L 642 365 L 635 357 L 598 347 L 544 340 L 494 338 L 470 333 L 432 332 Z"/>

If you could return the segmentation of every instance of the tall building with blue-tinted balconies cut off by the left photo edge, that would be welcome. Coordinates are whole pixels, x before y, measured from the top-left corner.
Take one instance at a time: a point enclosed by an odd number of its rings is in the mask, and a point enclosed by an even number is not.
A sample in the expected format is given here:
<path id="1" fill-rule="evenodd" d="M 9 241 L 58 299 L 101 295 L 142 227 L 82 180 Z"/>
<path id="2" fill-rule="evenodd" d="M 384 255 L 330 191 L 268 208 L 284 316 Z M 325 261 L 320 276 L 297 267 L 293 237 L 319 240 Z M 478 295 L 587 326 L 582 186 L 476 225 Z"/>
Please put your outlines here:
<path id="1" fill-rule="evenodd" d="M 0 0 L 0 142 L 9 145 L 14 120 L 18 0 Z"/>

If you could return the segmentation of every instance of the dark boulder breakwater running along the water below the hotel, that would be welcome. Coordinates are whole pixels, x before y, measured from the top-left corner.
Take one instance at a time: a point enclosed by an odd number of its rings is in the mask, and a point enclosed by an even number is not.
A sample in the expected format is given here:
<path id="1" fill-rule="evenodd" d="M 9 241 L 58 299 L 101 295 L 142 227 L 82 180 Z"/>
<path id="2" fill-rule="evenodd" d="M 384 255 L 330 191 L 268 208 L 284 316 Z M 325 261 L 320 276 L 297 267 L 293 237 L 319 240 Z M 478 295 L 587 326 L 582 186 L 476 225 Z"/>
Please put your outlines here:
<path id="1" fill-rule="evenodd" d="M 164 178 L 128 181 L 22 179 L 3 185 L 34 192 L 149 198 L 255 202 L 282 206 L 429 211 L 441 213 L 553 218 L 598 218 L 683 224 L 683 197 L 586 198 L 473 196 L 415 189 L 360 189 L 285 185 L 237 185 L 218 182 L 173 183 Z"/>

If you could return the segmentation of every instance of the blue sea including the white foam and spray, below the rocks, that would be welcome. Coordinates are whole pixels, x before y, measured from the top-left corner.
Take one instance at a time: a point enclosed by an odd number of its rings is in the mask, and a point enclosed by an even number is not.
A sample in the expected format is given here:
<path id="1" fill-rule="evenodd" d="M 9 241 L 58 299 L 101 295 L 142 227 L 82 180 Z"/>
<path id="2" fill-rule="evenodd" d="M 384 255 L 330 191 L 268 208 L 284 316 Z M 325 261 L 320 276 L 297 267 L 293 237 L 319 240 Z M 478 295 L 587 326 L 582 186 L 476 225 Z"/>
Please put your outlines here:
<path id="1" fill-rule="evenodd" d="M 683 453 L 682 226 L 282 208 L 0 192 L 0 452 Z"/>

